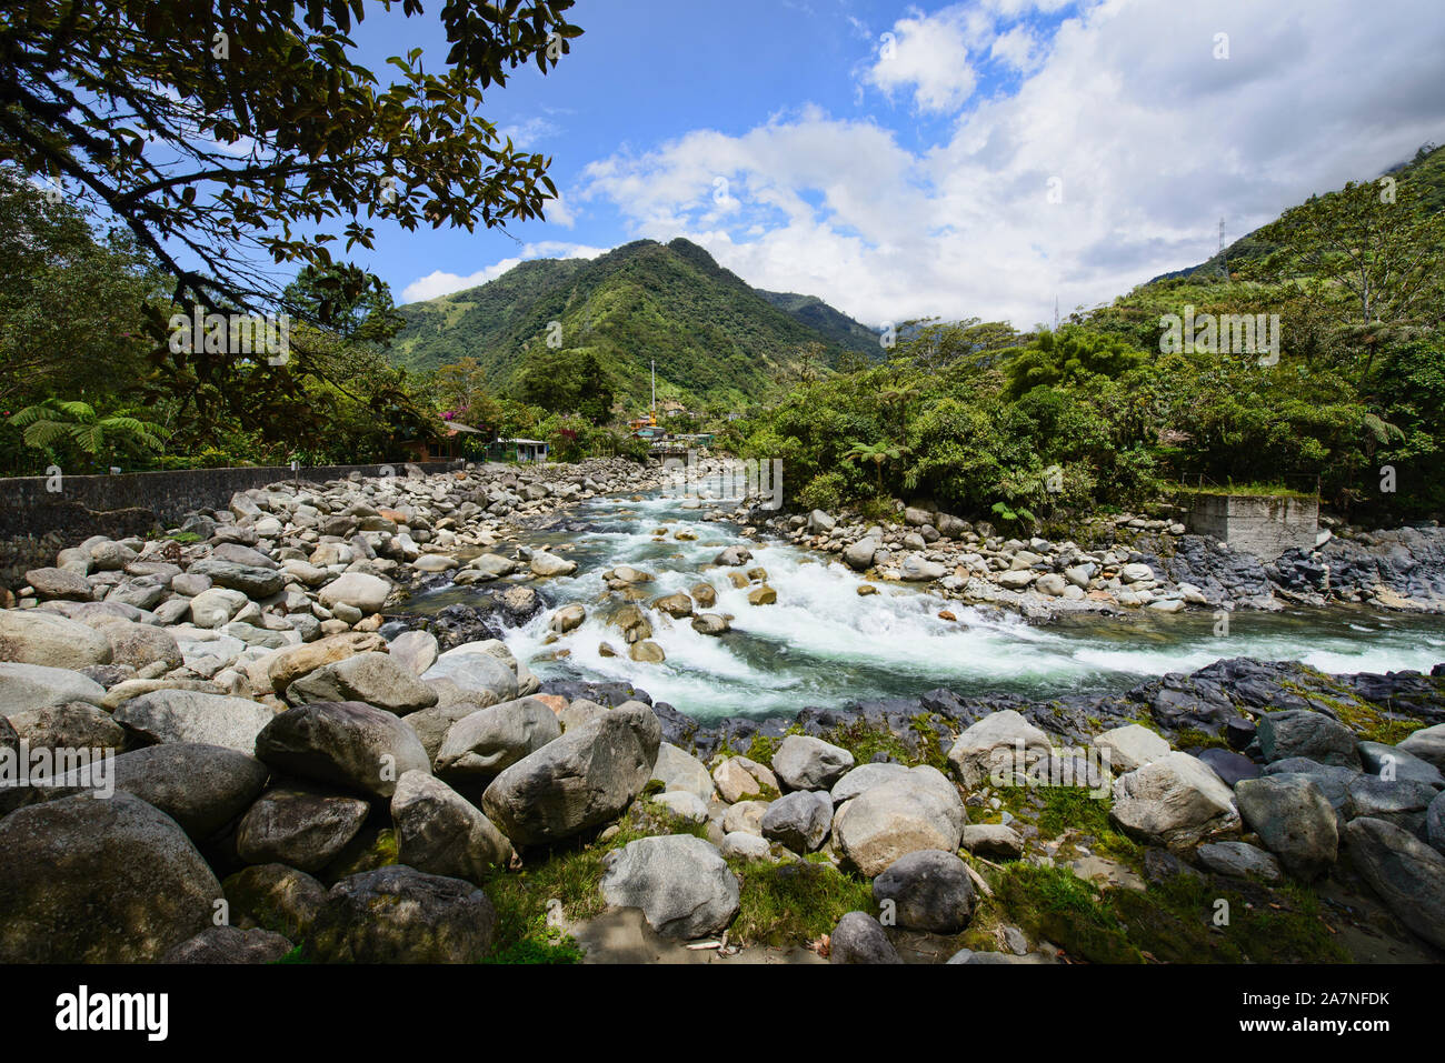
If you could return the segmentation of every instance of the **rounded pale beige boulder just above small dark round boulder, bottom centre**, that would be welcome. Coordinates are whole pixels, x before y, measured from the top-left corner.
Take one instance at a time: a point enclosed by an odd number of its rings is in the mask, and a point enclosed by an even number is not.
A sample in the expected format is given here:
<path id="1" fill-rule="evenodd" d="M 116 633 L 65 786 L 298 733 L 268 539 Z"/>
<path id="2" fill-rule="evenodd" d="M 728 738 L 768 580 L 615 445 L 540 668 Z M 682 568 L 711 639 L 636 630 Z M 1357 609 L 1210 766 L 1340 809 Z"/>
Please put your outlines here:
<path id="1" fill-rule="evenodd" d="M 965 822 L 954 784 L 938 768 L 925 765 L 844 802 L 832 833 L 844 858 L 873 878 L 919 849 L 952 852 Z"/>

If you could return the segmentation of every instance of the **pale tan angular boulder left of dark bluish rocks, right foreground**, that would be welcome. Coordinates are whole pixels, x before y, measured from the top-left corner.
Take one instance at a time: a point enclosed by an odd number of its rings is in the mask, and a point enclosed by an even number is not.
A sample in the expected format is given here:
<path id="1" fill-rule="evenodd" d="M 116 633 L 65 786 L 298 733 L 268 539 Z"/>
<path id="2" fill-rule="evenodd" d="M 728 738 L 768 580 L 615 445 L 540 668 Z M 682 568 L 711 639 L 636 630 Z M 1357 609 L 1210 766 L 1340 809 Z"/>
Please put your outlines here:
<path id="1" fill-rule="evenodd" d="M 1146 845 L 1181 848 L 1238 825 L 1233 793 L 1186 752 L 1170 752 L 1114 780 L 1114 823 Z"/>

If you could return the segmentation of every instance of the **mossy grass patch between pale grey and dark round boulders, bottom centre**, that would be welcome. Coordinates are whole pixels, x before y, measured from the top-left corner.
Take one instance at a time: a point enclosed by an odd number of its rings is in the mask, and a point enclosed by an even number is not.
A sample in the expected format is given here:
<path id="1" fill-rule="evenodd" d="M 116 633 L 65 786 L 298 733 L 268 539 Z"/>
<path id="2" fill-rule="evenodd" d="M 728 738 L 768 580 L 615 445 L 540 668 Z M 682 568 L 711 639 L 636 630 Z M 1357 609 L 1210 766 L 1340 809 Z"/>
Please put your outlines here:
<path id="1" fill-rule="evenodd" d="M 730 867 L 741 888 L 728 933 L 747 945 L 801 945 L 832 933 L 850 911 L 874 911 L 873 887 L 827 862 L 730 861 Z"/>

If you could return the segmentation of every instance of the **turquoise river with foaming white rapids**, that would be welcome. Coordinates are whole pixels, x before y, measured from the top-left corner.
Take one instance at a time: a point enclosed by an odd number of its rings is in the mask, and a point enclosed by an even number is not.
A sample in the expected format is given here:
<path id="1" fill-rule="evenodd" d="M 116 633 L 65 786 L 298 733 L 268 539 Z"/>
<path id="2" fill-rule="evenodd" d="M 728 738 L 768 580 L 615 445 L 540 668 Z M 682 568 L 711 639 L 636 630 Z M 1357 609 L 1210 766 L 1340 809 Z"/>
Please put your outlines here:
<path id="1" fill-rule="evenodd" d="M 507 646 L 542 679 L 631 682 L 699 721 L 790 716 L 809 705 L 918 698 L 938 686 L 964 696 L 1010 692 L 1040 699 L 1120 692 L 1224 657 L 1299 660 L 1332 673 L 1429 672 L 1445 661 L 1445 618 L 1358 608 L 1238 611 L 1230 615 L 1227 635 L 1215 634 L 1208 609 L 1173 615 L 1142 609 L 1121 620 L 1079 617 L 1035 627 L 915 586 L 864 581 L 831 556 L 788 543 L 754 543 L 737 526 L 704 521 L 701 513 L 656 494 L 640 503 L 594 498 L 565 517 L 568 530 L 527 536 L 530 544 L 577 560 L 578 575 L 538 583 L 552 608 L 509 631 Z M 653 536 L 665 526 L 668 537 Z M 673 539 L 678 527 L 696 539 Z M 736 543 L 753 552 L 746 569 L 767 569 L 776 605 L 750 605 L 747 591 L 727 579 L 730 569 L 708 568 L 718 550 Z M 702 635 L 688 620 L 649 611 L 653 641 L 668 659 L 662 664 L 630 660 L 621 634 L 595 608 L 608 596 L 603 572 L 614 565 L 656 576 L 643 585 L 640 605 L 709 582 L 718 601 L 707 611 L 731 614 L 733 630 Z M 863 582 L 873 582 L 879 592 L 860 596 Z M 464 586 L 435 591 L 419 595 L 413 608 L 428 612 L 474 594 Z M 587 621 L 548 644 L 548 618 L 568 602 L 587 605 Z M 942 609 L 958 620 L 941 620 Z M 604 641 L 621 656 L 601 656 Z M 568 653 L 556 657 L 558 650 Z"/>

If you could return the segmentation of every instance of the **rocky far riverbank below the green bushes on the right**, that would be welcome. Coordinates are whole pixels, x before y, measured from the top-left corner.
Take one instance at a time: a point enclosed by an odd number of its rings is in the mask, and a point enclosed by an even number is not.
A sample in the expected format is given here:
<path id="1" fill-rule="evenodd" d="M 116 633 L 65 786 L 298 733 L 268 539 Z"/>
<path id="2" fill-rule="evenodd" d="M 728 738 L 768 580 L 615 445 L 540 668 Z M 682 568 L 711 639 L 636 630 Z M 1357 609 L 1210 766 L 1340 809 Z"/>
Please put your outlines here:
<path id="1" fill-rule="evenodd" d="M 783 516 L 747 508 L 759 533 L 838 555 L 879 579 L 926 585 L 967 604 L 1004 605 L 1046 621 L 1071 611 L 1279 609 L 1368 605 L 1445 611 L 1445 529 L 1327 530 L 1316 549 L 1272 562 L 1188 534 L 1172 520 L 1131 514 L 1079 529 L 1088 544 L 1000 534 L 990 523 L 900 508 L 897 523 L 857 513 Z"/>

